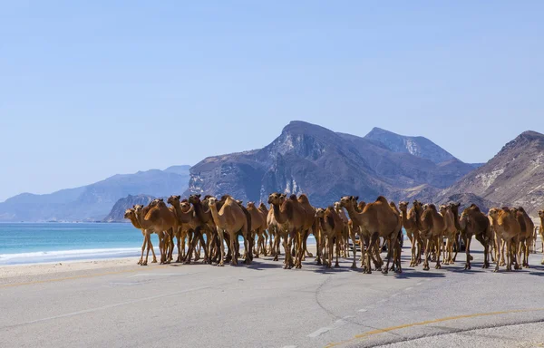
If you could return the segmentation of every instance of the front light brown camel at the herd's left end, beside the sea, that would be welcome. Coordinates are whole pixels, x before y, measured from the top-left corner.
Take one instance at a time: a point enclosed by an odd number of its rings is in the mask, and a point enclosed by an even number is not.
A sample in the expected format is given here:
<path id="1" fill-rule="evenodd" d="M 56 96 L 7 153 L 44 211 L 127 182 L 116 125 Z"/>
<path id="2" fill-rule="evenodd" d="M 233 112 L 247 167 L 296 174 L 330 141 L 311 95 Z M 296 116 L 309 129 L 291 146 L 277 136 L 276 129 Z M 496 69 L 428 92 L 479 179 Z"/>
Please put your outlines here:
<path id="1" fill-rule="evenodd" d="M 159 235 L 160 264 L 168 263 L 169 236 L 167 231 L 178 226 L 175 215 L 170 211 L 162 199 L 155 199 L 145 207 L 135 206 L 134 212 L 142 228 Z M 148 253 L 142 265 L 147 265 Z"/>

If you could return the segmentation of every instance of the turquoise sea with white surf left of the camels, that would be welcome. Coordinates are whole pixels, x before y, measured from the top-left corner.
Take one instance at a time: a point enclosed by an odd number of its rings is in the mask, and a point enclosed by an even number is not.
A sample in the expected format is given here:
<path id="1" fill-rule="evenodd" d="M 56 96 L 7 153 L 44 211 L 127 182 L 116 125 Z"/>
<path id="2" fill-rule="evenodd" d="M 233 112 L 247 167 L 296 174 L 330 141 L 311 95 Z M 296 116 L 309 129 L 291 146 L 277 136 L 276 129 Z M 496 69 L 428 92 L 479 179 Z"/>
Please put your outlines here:
<path id="1" fill-rule="evenodd" d="M 140 256 L 142 241 L 130 223 L 0 223 L 0 266 Z"/>

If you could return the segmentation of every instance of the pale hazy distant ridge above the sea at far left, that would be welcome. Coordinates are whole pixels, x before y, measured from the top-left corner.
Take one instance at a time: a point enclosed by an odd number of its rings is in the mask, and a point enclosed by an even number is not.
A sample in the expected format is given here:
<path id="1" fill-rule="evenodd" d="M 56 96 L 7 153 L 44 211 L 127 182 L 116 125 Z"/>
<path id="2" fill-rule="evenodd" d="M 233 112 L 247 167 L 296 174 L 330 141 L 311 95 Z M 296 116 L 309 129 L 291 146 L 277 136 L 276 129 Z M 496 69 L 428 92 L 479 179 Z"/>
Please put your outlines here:
<path id="1" fill-rule="evenodd" d="M 46 195 L 23 193 L 0 203 L 0 221 L 98 221 L 127 195 L 170 196 L 189 183 L 186 166 L 118 174 L 91 185 Z"/>

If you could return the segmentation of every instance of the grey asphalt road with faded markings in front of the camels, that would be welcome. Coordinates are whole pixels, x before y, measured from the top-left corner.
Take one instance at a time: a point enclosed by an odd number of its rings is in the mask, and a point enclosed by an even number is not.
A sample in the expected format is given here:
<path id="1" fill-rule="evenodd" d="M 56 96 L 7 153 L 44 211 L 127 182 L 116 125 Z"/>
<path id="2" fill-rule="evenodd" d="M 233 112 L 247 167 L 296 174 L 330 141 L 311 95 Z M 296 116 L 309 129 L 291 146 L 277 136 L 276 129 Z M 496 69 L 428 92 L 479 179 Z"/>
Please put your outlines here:
<path id="1" fill-rule="evenodd" d="M 282 269 L 123 266 L 0 280 L 0 346 L 531 347 L 544 344 L 544 266 L 364 275 L 345 260 Z M 5 345 L 4 345 L 5 344 Z M 387 345 L 389 344 L 389 345 Z"/>

